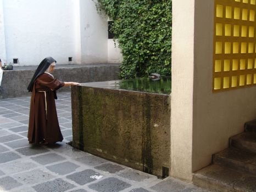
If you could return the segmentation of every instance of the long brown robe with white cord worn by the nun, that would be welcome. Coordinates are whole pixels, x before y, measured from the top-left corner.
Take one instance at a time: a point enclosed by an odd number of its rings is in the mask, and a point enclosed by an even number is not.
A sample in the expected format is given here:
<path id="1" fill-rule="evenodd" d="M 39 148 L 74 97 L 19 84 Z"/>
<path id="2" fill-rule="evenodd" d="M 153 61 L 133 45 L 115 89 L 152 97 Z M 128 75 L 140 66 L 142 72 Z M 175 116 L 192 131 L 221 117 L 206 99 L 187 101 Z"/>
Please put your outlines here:
<path id="1" fill-rule="evenodd" d="M 27 133 L 30 143 L 55 143 L 63 140 L 54 100 L 57 99 L 56 90 L 63 86 L 64 82 L 49 74 L 42 74 L 36 78 L 30 101 L 29 132 Z M 40 91 L 46 92 L 46 99 L 44 92 Z"/>

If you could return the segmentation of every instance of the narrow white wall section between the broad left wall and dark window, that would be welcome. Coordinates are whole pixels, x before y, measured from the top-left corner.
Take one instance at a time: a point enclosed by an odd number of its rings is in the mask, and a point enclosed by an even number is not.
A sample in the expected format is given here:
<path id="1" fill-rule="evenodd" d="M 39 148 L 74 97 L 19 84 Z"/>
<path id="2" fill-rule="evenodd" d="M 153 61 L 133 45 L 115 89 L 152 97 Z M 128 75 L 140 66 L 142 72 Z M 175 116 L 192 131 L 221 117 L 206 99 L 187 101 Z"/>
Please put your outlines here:
<path id="1" fill-rule="evenodd" d="M 97 1 L 80 1 L 80 32 L 82 63 L 108 62 L 108 22 L 105 14 L 99 14 Z"/>

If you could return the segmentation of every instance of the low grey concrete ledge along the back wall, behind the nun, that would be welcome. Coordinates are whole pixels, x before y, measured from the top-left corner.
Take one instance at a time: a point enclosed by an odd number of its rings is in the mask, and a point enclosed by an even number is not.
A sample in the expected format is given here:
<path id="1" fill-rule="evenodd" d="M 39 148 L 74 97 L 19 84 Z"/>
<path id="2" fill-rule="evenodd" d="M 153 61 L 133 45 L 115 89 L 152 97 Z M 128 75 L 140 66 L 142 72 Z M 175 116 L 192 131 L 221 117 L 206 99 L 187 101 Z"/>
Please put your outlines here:
<path id="1" fill-rule="evenodd" d="M 30 95 L 27 86 L 37 66 L 14 67 L 5 71 L 0 87 L 0 99 Z M 94 82 L 118 80 L 119 64 L 57 65 L 53 75 L 60 81 Z M 59 92 L 70 91 L 69 87 Z"/>

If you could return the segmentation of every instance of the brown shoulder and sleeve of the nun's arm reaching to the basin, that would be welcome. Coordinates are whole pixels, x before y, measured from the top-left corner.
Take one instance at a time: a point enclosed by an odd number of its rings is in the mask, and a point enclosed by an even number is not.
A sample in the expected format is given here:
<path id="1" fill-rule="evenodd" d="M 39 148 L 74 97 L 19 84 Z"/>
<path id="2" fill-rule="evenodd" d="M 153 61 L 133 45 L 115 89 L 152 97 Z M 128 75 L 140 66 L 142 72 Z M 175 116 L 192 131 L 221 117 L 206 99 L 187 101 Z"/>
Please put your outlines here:
<path id="1" fill-rule="evenodd" d="M 48 74 L 42 74 L 40 77 L 37 78 L 36 83 L 38 84 L 38 86 L 48 87 L 52 91 L 56 91 L 64 86 L 64 82 L 59 81 Z"/>

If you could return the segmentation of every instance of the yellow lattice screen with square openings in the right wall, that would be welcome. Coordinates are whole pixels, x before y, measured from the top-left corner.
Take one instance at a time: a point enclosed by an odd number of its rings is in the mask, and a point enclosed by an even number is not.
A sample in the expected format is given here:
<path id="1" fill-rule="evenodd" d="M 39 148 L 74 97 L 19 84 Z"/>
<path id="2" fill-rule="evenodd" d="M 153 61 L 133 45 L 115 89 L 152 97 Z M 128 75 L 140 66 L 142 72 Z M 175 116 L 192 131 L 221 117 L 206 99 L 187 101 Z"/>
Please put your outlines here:
<path id="1" fill-rule="evenodd" d="M 256 0 L 215 0 L 213 92 L 256 84 Z"/>

